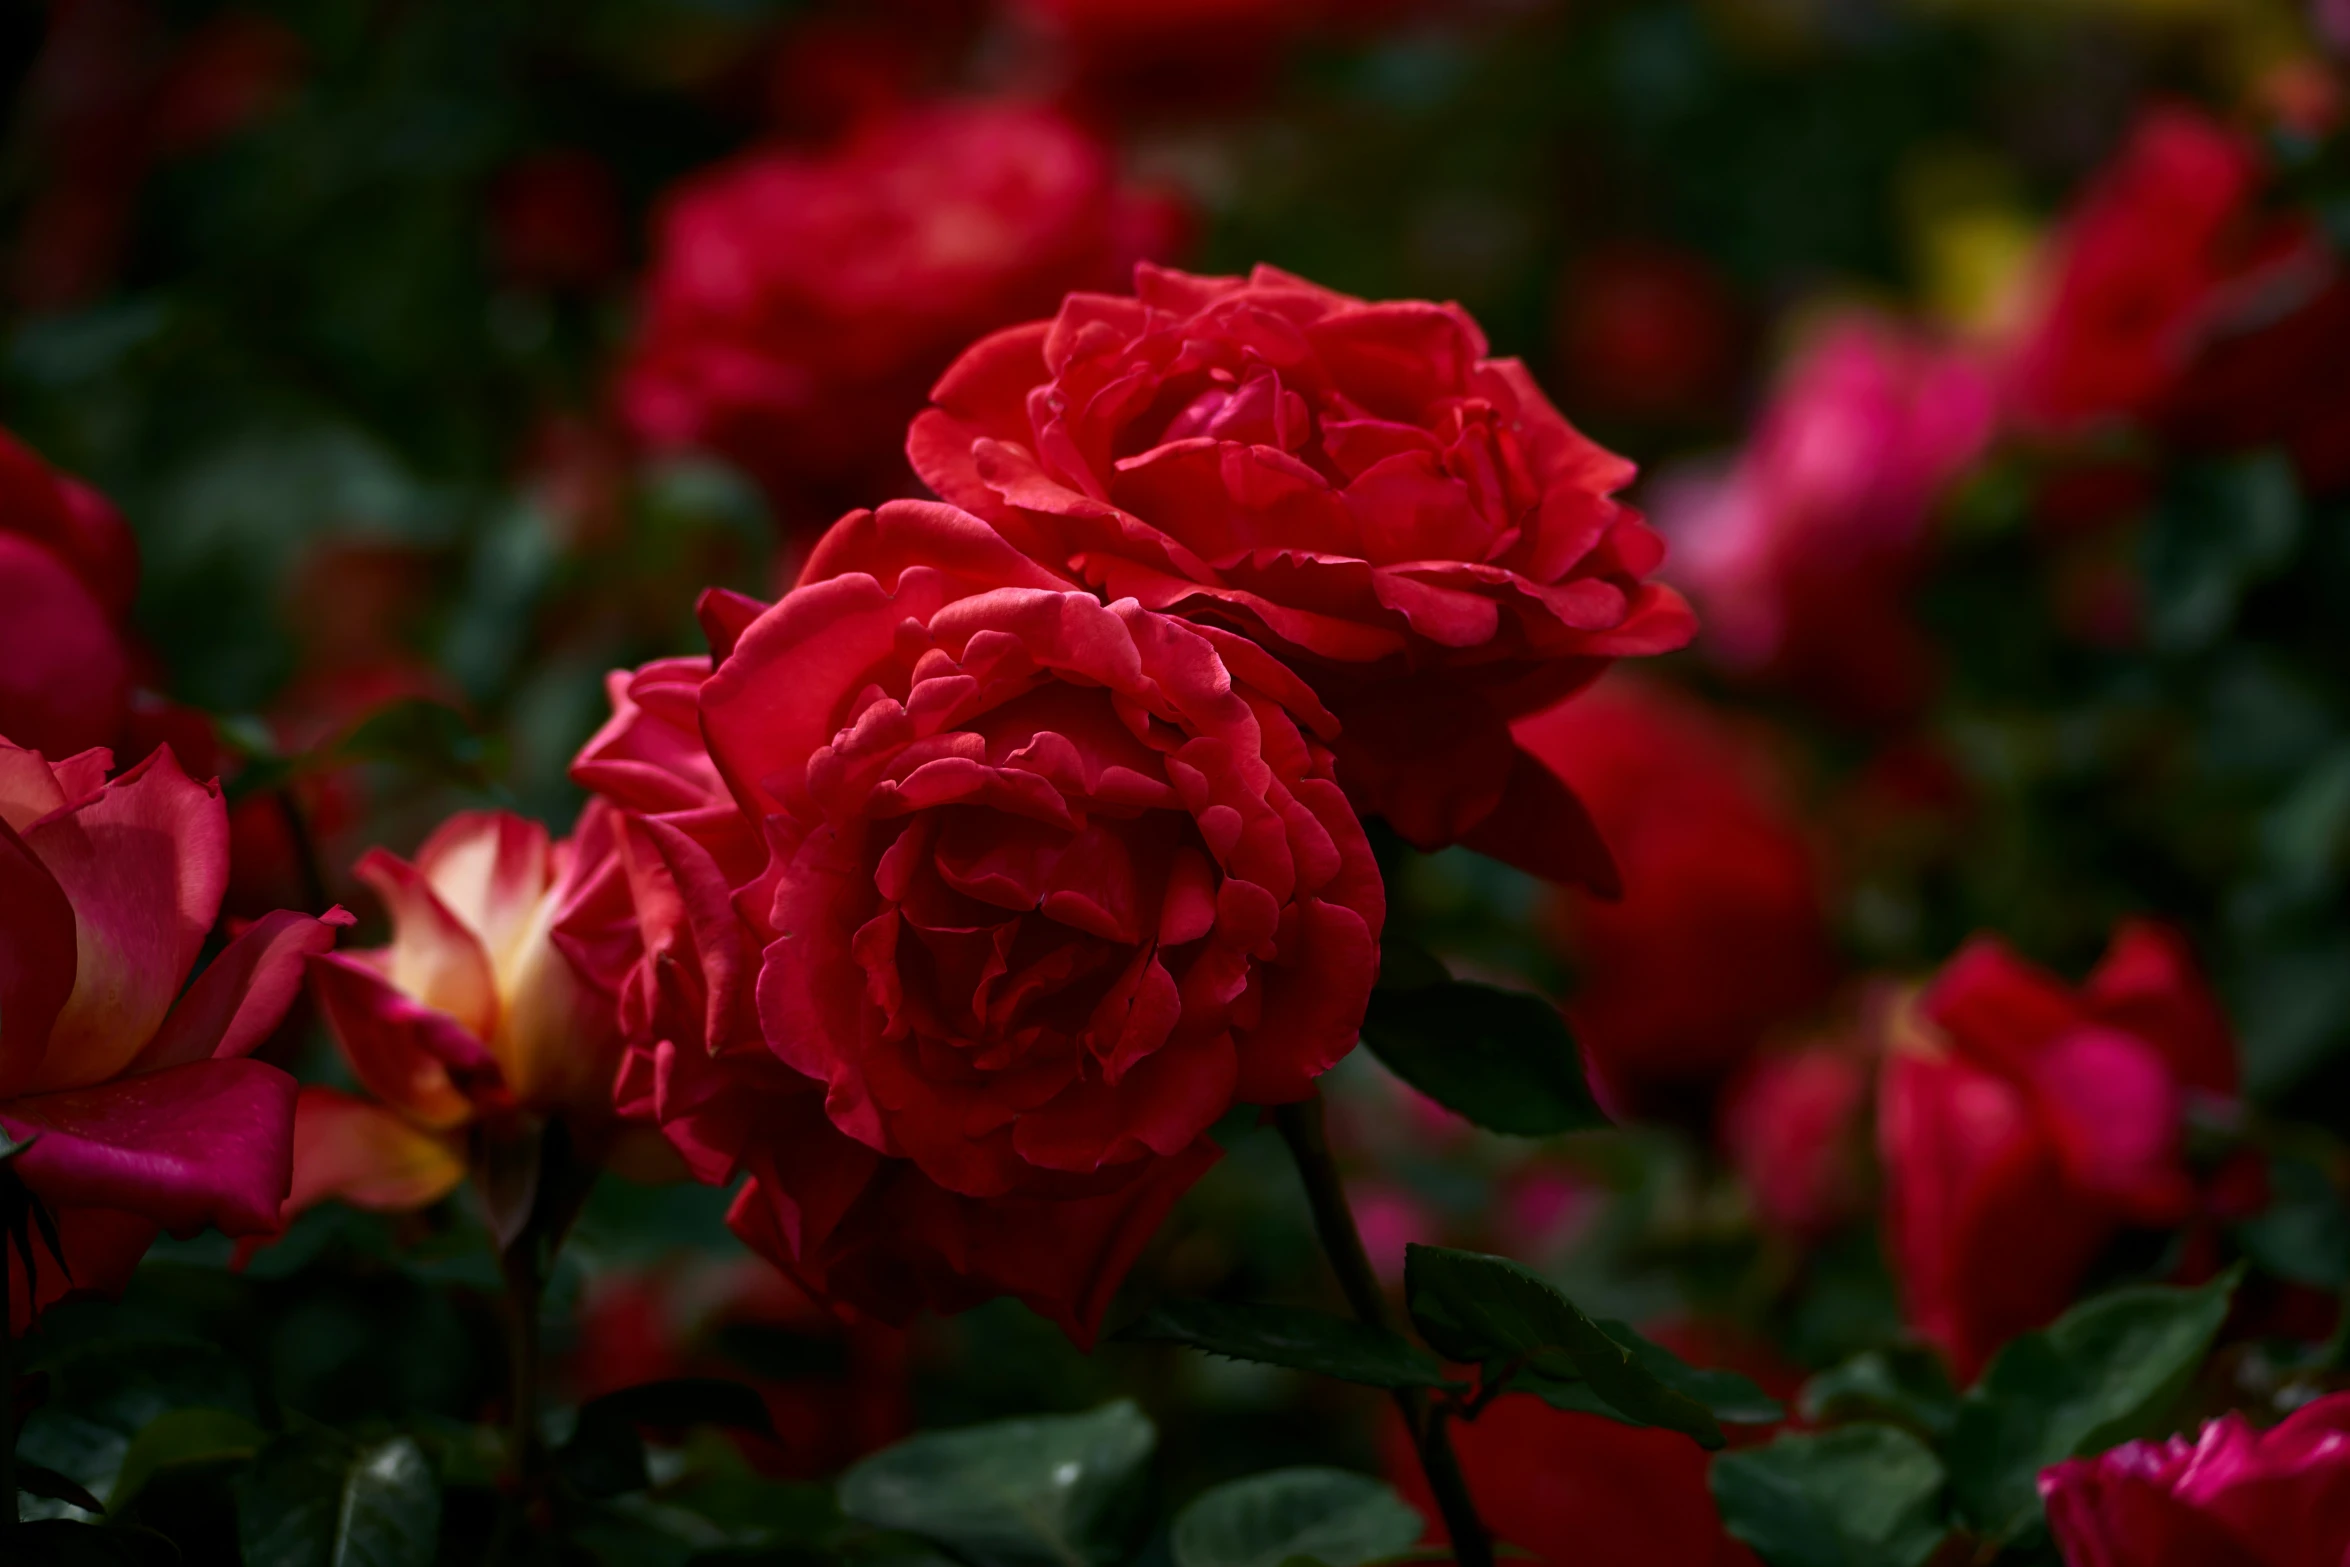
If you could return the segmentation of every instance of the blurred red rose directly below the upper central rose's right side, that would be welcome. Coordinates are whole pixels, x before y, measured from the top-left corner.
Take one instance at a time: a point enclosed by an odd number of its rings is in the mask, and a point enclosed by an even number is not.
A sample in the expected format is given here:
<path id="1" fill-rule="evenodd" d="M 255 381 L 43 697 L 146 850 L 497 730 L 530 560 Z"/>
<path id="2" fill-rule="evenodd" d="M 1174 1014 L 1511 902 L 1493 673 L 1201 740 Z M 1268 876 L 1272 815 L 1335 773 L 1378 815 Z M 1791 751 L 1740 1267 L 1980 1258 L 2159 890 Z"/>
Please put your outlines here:
<path id="1" fill-rule="evenodd" d="M 1518 724 L 1591 808 L 1624 897 L 1560 895 L 1567 1020 L 1612 1104 L 1673 1109 L 1835 977 L 1819 872 L 1770 756 L 1687 698 L 1605 684 Z"/>

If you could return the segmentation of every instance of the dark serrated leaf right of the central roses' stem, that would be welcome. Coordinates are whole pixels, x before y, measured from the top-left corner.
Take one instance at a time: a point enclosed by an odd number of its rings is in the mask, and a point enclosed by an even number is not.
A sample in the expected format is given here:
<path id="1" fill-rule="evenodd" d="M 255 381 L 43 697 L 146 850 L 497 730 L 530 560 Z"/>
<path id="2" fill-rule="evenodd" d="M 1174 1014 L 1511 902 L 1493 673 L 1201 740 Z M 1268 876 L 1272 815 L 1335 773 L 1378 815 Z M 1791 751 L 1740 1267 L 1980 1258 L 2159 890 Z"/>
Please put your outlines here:
<path id="1" fill-rule="evenodd" d="M 1589 1381 L 1617 1417 L 1636 1426 L 1680 1431 L 1704 1447 L 1723 1445 L 1723 1426 L 1706 1405 L 1657 1377 L 1633 1349 L 1523 1264 L 1408 1245 L 1403 1292 L 1422 1337 L 1450 1360 L 1523 1365 L 1539 1379 L 1535 1391 L 1542 1384 Z"/>

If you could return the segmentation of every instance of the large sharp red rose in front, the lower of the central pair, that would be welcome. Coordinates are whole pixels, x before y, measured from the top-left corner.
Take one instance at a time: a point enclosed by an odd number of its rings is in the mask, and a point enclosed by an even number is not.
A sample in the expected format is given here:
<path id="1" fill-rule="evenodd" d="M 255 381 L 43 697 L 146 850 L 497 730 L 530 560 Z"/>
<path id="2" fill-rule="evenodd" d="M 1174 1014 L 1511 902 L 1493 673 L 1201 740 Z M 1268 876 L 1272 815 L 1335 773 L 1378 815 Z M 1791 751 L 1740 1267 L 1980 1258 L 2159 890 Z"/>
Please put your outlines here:
<path id="1" fill-rule="evenodd" d="M 616 677 L 576 764 L 634 867 L 576 926 L 623 1107 L 747 1172 L 736 1231 L 820 1299 L 1090 1339 L 1208 1128 L 1354 1045 L 1384 895 L 1330 717 L 945 505 L 846 517 L 750 608 Z"/>

